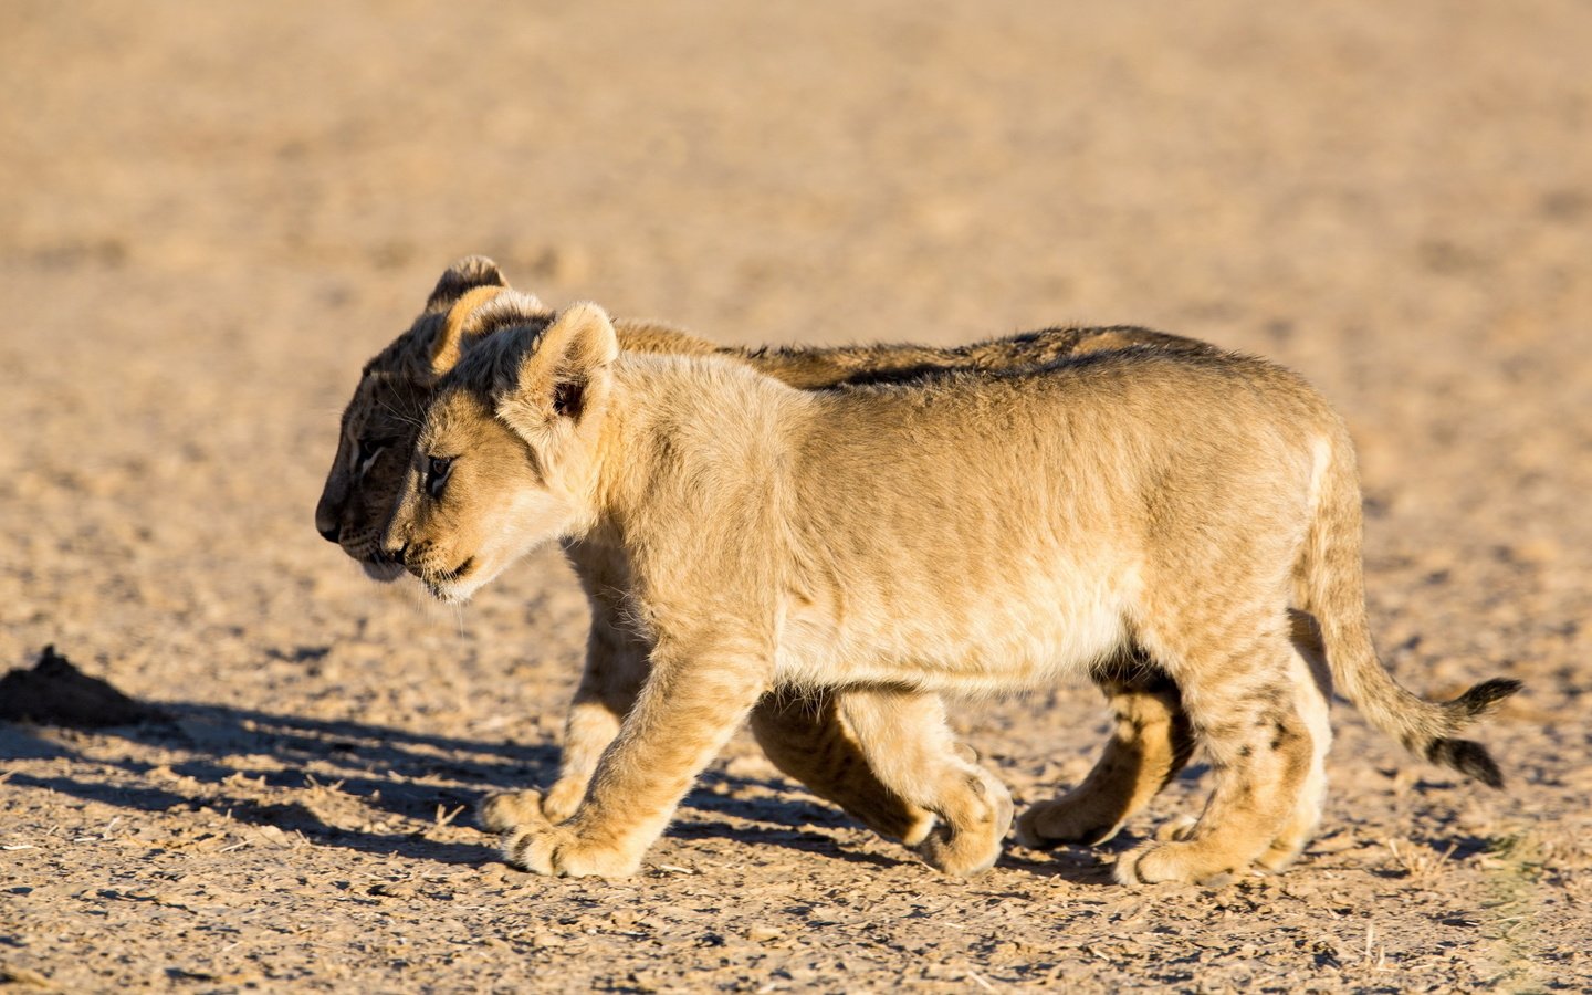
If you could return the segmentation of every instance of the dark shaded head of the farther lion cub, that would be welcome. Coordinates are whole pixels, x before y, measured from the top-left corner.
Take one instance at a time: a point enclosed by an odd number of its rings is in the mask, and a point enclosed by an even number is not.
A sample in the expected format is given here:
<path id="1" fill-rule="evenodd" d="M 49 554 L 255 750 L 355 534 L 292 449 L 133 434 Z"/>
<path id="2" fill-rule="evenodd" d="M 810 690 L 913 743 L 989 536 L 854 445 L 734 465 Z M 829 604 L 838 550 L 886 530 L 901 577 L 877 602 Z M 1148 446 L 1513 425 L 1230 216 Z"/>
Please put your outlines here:
<path id="1" fill-rule="evenodd" d="M 365 365 L 342 412 L 315 529 L 376 579 L 403 573 L 401 564 L 382 554 L 380 540 L 431 390 L 458 360 L 463 318 L 505 287 L 492 259 L 470 256 L 451 266 L 414 325 Z"/>

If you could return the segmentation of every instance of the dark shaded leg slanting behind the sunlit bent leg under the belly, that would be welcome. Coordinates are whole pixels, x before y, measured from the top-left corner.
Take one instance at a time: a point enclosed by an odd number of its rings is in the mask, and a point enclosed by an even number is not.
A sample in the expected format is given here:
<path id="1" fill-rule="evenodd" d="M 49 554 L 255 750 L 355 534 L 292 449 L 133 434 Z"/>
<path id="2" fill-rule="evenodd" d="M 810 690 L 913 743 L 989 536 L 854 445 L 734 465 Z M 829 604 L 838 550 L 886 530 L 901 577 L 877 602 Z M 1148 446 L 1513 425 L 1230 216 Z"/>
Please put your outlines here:
<path id="1" fill-rule="evenodd" d="M 783 774 L 874 833 L 915 847 L 928 836 L 935 814 L 907 802 L 879 778 L 842 715 L 847 694 L 777 688 L 753 708 L 751 732 Z"/>

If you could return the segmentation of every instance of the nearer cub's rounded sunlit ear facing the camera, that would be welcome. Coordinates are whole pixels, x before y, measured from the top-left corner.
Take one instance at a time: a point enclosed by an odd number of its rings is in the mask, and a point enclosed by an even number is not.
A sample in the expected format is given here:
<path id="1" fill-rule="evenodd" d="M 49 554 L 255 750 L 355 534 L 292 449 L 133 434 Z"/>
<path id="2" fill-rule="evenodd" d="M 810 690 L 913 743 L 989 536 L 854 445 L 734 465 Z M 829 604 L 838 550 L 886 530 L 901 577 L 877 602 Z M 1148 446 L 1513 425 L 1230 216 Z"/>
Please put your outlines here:
<path id="1" fill-rule="evenodd" d="M 525 352 L 497 414 L 532 441 L 560 435 L 603 406 L 616 358 L 619 339 L 608 312 L 595 304 L 575 304 Z"/>

